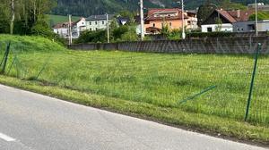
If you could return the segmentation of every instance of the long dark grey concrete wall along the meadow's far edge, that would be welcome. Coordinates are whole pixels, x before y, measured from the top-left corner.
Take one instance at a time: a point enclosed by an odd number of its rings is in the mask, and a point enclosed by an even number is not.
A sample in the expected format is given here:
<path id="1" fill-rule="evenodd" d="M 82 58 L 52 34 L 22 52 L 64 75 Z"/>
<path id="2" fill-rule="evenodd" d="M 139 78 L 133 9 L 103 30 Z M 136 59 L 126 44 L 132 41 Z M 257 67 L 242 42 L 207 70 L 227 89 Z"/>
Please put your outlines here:
<path id="1" fill-rule="evenodd" d="M 74 50 L 120 50 L 150 53 L 253 54 L 261 43 L 262 54 L 269 54 L 269 37 L 221 37 L 186 40 L 120 42 L 71 45 Z"/>

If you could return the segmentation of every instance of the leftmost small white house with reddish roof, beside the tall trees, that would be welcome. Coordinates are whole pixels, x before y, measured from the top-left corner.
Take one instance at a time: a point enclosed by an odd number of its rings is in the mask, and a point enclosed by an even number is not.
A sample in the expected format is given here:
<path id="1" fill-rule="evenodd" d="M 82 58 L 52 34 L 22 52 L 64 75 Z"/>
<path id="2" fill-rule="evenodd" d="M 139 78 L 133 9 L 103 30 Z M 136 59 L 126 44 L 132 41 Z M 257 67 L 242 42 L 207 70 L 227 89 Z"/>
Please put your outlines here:
<path id="1" fill-rule="evenodd" d="M 74 22 L 71 22 L 72 24 Z M 69 37 L 69 22 L 58 23 L 53 27 L 54 33 L 58 34 L 60 37 Z"/>

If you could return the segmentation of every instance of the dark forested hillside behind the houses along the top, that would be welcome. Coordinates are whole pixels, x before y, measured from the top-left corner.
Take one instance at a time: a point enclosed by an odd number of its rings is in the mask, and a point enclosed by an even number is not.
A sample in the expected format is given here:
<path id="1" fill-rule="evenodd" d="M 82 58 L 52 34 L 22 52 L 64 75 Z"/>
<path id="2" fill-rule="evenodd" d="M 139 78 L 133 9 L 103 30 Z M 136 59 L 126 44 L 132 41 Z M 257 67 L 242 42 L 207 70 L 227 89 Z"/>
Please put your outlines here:
<path id="1" fill-rule="evenodd" d="M 179 0 L 144 0 L 146 8 L 152 7 L 176 7 Z M 188 9 L 195 9 L 200 4 L 218 3 L 223 0 L 185 0 Z M 91 14 L 115 13 L 121 10 L 138 10 L 139 0 L 57 0 L 57 7 L 53 10 L 54 14 L 66 15 L 71 13 L 76 16 L 88 16 Z M 253 0 L 232 0 L 241 4 L 253 3 Z M 269 0 L 259 2 L 269 3 Z"/>

